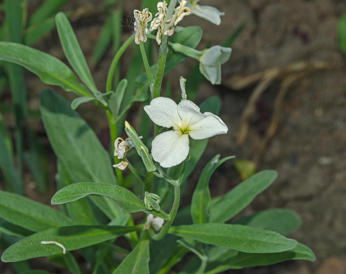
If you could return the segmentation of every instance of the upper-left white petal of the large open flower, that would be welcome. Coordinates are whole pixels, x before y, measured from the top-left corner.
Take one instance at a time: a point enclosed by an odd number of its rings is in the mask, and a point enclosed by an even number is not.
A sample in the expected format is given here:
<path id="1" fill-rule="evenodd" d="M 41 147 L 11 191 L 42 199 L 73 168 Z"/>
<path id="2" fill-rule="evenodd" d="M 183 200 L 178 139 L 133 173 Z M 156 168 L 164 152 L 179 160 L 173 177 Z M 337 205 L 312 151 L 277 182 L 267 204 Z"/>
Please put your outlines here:
<path id="1" fill-rule="evenodd" d="M 170 98 L 157 97 L 144 110 L 156 125 L 174 129 L 181 126 L 177 104 Z"/>

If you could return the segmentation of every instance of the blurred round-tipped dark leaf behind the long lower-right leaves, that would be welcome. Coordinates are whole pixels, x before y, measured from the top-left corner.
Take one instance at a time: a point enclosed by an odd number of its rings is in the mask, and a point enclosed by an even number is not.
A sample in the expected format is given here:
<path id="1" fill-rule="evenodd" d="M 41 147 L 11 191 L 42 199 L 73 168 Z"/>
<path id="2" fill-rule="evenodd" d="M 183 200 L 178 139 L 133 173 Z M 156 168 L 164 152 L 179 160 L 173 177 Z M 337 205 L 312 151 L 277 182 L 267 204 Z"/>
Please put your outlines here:
<path id="1" fill-rule="evenodd" d="M 286 236 L 300 227 L 301 220 L 297 213 L 289 209 L 276 208 L 239 218 L 233 224 L 262 228 Z"/>

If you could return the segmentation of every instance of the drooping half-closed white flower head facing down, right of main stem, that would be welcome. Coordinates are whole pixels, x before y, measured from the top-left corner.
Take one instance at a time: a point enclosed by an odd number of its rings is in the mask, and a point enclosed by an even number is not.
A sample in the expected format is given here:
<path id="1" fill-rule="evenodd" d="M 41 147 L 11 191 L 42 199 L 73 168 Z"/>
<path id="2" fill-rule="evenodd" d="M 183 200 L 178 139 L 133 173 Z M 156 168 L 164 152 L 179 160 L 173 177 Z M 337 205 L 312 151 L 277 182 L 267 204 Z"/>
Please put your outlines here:
<path id="1" fill-rule="evenodd" d="M 199 58 L 199 70 L 212 84 L 221 84 L 221 65 L 229 59 L 231 52 L 231 48 L 221 46 L 203 51 Z"/>

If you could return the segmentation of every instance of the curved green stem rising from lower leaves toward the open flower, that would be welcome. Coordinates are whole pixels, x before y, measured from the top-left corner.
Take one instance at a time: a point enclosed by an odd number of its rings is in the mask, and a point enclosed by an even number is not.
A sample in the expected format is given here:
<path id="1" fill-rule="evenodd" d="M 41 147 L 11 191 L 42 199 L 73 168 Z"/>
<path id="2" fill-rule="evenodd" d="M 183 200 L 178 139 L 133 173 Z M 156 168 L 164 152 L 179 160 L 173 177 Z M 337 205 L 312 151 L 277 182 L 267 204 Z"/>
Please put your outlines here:
<path id="1" fill-rule="evenodd" d="M 152 229 L 149 229 L 149 235 L 153 240 L 161 240 L 168 232 L 168 230 L 171 228 L 172 223 L 175 219 L 176 213 L 178 212 L 179 203 L 180 203 L 180 184 L 183 181 L 184 173 L 185 173 L 185 167 L 186 162 L 183 162 L 183 166 L 181 167 L 180 176 L 178 180 L 176 180 L 174 186 L 174 201 L 173 206 L 171 209 L 171 212 L 169 214 L 169 219 L 165 222 L 164 226 L 158 232 L 158 234 L 155 234 L 155 232 Z"/>

